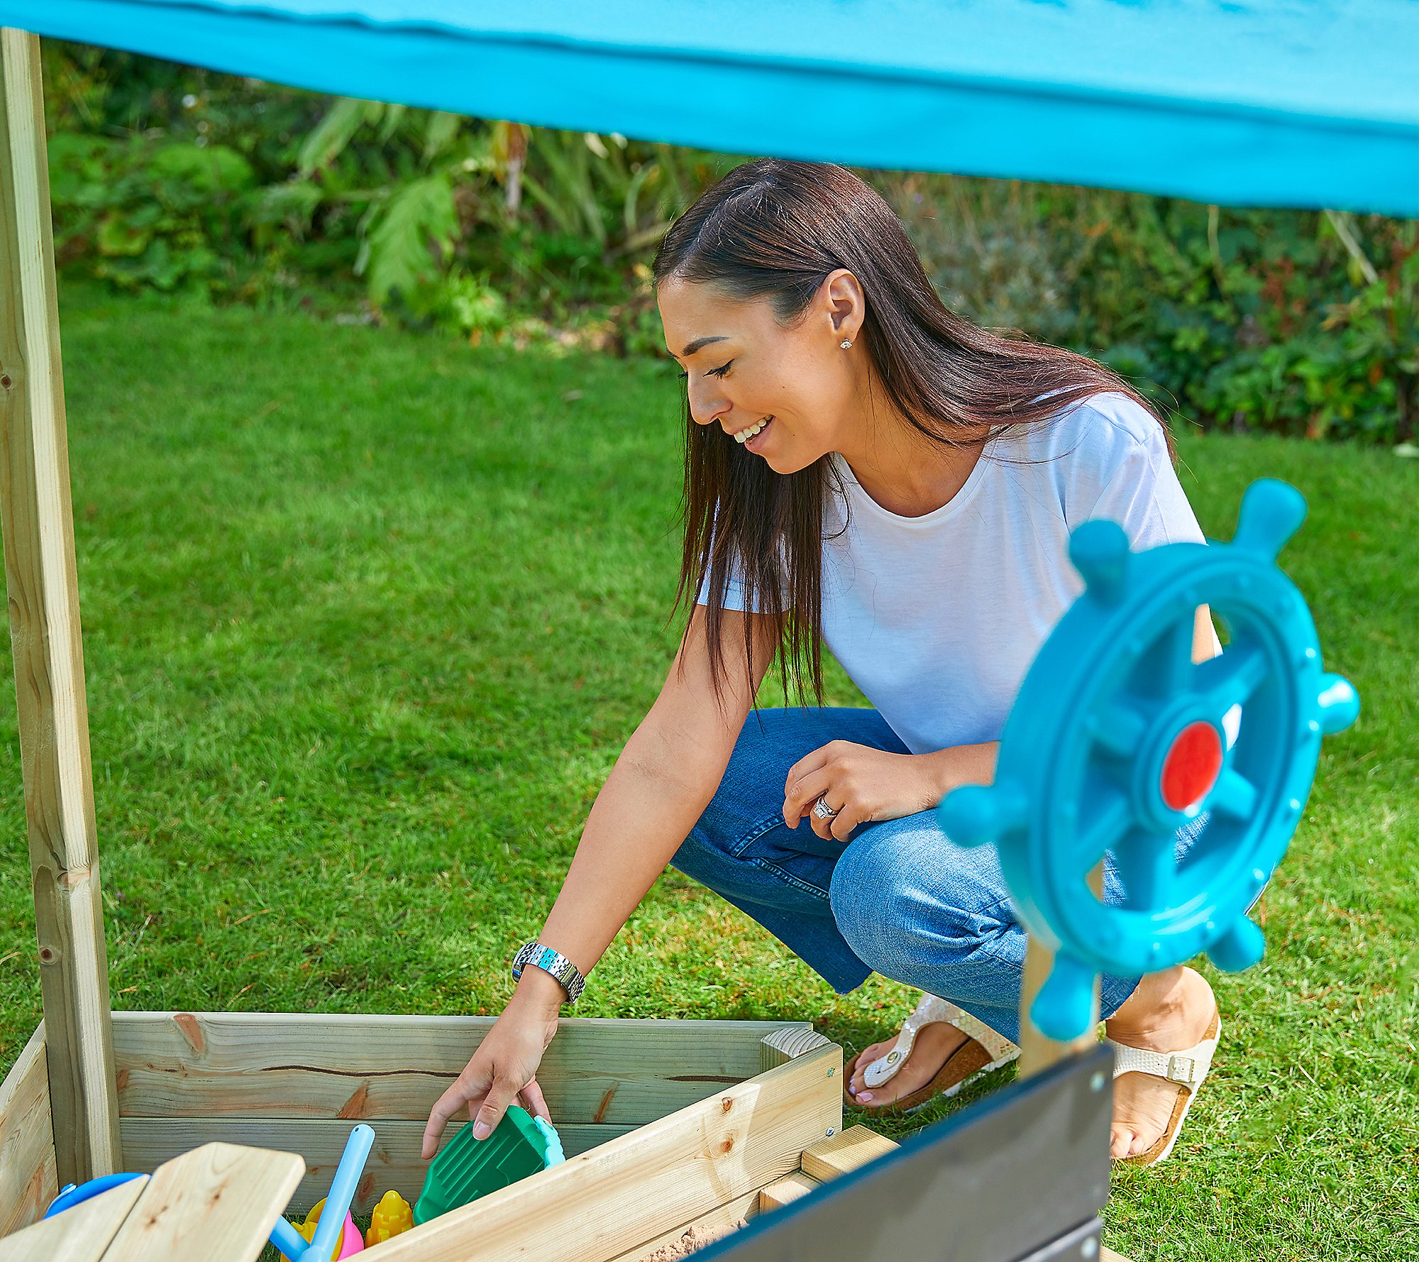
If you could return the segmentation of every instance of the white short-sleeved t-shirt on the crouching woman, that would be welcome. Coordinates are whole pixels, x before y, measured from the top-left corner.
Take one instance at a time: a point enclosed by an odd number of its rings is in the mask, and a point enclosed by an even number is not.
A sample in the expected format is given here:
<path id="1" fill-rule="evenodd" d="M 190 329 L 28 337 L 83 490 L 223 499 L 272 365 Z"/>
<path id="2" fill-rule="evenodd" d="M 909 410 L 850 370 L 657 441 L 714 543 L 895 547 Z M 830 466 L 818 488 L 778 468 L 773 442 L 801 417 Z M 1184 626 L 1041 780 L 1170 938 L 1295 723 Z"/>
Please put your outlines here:
<path id="1" fill-rule="evenodd" d="M 823 640 L 914 754 L 999 740 L 1036 652 L 1084 588 L 1069 561 L 1081 521 L 1112 518 L 1135 551 L 1203 542 L 1162 426 L 1117 392 L 996 437 L 951 501 L 922 517 L 883 508 L 839 453 L 829 459 L 850 514 L 840 534 L 830 487 Z M 744 609 L 736 569 L 725 605 Z"/>

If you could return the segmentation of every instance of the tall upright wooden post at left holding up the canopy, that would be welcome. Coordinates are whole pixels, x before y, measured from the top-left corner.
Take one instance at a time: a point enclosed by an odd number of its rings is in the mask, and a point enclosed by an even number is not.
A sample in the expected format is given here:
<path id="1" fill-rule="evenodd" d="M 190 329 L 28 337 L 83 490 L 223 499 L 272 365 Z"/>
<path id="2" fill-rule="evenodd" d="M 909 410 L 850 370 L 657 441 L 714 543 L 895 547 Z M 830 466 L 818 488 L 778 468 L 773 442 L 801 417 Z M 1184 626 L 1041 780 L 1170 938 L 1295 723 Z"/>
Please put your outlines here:
<path id="1" fill-rule="evenodd" d="M 60 1183 L 119 1160 L 40 41 L 0 30 L 0 530 Z"/>

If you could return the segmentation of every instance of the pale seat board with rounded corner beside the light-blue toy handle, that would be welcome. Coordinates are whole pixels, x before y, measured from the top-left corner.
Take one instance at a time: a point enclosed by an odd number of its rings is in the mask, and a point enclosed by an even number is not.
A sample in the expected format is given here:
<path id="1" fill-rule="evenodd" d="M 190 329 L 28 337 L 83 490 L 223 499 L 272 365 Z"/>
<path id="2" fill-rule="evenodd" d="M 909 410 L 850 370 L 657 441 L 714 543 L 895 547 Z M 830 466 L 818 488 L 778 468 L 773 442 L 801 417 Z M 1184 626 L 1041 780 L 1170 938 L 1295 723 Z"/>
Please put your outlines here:
<path id="1" fill-rule="evenodd" d="M 251 1262 L 301 1181 L 295 1153 L 204 1144 L 159 1167 L 104 1262 Z"/>

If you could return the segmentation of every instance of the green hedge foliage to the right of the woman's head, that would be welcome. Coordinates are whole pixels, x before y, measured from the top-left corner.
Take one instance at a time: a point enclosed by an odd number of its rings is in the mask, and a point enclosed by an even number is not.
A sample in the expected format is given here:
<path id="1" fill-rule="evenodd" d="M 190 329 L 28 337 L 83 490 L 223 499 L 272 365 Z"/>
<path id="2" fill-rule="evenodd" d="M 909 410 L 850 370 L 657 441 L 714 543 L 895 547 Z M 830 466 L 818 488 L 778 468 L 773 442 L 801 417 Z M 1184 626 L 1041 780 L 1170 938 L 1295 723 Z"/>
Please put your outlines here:
<path id="1" fill-rule="evenodd" d="M 948 305 L 1094 355 L 1179 422 L 1395 443 L 1419 424 L 1419 224 L 883 175 Z"/>

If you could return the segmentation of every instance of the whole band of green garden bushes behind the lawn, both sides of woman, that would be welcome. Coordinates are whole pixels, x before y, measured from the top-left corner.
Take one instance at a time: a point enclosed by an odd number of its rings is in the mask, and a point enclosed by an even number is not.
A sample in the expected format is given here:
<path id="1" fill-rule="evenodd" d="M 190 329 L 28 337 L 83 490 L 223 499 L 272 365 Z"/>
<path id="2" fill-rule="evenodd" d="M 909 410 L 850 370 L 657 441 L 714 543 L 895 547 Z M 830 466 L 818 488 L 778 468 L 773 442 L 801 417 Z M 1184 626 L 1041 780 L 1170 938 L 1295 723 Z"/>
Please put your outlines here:
<path id="1" fill-rule="evenodd" d="M 61 267 L 474 342 L 663 353 L 650 254 L 744 160 L 57 43 L 45 87 Z M 1181 420 L 1415 437 L 1412 220 L 861 175 L 949 305 L 1095 355 Z"/>

